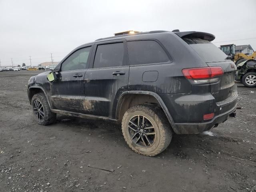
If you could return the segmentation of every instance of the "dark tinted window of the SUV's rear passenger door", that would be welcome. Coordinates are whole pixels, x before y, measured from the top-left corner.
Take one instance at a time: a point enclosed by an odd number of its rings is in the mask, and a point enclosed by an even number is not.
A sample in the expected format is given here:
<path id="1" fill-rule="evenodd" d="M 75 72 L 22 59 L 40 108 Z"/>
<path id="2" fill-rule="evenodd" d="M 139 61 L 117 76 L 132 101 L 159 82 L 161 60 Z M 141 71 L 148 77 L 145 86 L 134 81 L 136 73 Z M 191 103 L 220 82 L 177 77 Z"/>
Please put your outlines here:
<path id="1" fill-rule="evenodd" d="M 98 45 L 93 68 L 122 66 L 124 62 L 124 43 Z"/>

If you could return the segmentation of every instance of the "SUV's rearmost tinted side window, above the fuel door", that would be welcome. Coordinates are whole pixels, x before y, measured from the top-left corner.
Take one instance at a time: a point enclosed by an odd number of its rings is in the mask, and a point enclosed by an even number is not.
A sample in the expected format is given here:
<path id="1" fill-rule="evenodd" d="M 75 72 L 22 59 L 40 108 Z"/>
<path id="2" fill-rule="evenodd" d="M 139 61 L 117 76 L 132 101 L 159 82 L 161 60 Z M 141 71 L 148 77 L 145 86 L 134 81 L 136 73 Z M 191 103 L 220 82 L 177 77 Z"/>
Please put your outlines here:
<path id="1" fill-rule="evenodd" d="M 130 65 L 165 63 L 169 58 L 158 42 L 153 40 L 127 42 Z"/>

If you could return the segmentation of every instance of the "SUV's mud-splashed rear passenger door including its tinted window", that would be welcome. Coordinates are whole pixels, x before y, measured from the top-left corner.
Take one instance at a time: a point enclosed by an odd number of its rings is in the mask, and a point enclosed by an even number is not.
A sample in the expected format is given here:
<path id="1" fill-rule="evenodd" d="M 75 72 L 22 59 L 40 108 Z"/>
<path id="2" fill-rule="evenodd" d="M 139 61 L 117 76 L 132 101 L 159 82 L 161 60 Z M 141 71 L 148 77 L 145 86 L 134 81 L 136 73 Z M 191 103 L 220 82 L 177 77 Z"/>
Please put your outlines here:
<path id="1" fill-rule="evenodd" d="M 95 44 L 84 77 L 86 113 L 115 117 L 118 97 L 128 90 L 129 62 L 125 40 Z"/>

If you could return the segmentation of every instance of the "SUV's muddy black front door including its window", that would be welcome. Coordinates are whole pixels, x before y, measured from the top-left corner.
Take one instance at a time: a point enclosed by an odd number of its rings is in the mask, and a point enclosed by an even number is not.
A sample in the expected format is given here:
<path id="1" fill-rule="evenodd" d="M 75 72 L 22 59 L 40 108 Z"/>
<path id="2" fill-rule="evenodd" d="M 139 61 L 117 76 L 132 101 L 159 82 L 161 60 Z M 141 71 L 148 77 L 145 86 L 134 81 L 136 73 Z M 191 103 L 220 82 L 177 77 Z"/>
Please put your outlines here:
<path id="1" fill-rule="evenodd" d="M 54 109 L 84 112 L 84 75 L 90 61 L 92 46 L 75 50 L 56 72 L 56 81 L 51 84 L 51 101 Z"/>

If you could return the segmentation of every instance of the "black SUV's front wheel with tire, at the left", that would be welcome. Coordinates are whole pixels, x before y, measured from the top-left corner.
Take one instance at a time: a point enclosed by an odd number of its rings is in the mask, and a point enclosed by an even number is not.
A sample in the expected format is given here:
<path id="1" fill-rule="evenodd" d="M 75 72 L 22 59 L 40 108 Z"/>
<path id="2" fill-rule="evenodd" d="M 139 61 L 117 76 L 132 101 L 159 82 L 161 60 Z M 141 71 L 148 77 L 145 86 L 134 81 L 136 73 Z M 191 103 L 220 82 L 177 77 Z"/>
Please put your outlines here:
<path id="1" fill-rule="evenodd" d="M 34 94 L 31 105 L 33 116 L 38 124 L 49 125 L 55 122 L 56 114 L 51 111 L 44 93 Z"/>

